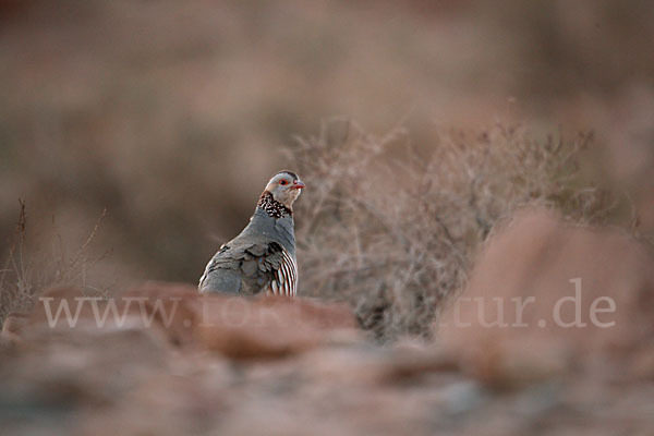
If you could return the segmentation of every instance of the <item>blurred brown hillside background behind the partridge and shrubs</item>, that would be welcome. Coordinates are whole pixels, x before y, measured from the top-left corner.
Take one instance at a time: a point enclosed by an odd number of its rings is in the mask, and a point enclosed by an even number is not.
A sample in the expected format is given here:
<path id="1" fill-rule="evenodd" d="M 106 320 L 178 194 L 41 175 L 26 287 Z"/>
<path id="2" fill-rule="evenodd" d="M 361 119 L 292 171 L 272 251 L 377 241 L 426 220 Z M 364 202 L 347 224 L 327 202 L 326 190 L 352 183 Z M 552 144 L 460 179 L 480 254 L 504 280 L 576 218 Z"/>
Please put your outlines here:
<path id="1" fill-rule="evenodd" d="M 33 269 L 82 254 L 101 262 L 75 277 L 102 291 L 196 282 L 331 117 L 419 154 L 497 122 L 593 131 L 582 178 L 651 232 L 653 40 L 646 0 L 3 0 L 3 252 L 22 198 Z"/>

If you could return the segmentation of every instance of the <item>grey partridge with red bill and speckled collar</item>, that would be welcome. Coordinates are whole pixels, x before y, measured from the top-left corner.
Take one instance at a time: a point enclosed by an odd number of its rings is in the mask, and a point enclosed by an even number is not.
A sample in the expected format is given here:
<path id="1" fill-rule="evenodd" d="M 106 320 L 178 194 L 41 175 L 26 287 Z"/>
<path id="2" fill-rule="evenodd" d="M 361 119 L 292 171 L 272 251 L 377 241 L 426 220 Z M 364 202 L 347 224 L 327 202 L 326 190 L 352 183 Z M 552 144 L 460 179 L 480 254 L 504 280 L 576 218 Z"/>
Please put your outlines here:
<path id="1" fill-rule="evenodd" d="M 304 187 L 294 172 L 275 174 L 262 193 L 250 223 L 207 264 L 199 279 L 199 291 L 295 295 L 293 203 Z"/>

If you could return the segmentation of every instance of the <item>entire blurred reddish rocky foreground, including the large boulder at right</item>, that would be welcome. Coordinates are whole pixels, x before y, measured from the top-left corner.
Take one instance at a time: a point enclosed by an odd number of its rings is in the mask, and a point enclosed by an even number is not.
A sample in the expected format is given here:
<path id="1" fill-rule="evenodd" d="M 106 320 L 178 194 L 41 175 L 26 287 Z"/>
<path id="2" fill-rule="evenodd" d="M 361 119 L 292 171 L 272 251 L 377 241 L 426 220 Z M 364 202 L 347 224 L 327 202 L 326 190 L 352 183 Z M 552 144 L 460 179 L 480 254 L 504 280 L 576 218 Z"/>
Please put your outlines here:
<path id="1" fill-rule="evenodd" d="M 3 326 L 0 428 L 11 435 L 652 434 L 647 250 L 617 231 L 522 213 L 489 240 L 462 295 L 485 305 L 449 307 L 439 343 L 431 344 L 372 344 L 346 306 L 305 299 L 202 296 L 193 287 L 156 282 L 112 300 L 52 290 L 31 314 L 12 315 Z M 578 278 L 579 320 L 586 326 L 557 326 L 555 306 L 576 296 L 569 280 Z M 530 296 L 535 301 L 517 318 L 511 299 Z M 603 296 L 616 308 L 597 318 L 610 327 L 592 325 L 593 301 Z M 494 298 L 511 303 L 501 317 Z M 64 308 L 53 322 L 64 303 L 72 326 Z M 559 308 L 562 322 L 574 320 L 572 301 Z M 487 325 L 498 318 L 509 326 Z"/>

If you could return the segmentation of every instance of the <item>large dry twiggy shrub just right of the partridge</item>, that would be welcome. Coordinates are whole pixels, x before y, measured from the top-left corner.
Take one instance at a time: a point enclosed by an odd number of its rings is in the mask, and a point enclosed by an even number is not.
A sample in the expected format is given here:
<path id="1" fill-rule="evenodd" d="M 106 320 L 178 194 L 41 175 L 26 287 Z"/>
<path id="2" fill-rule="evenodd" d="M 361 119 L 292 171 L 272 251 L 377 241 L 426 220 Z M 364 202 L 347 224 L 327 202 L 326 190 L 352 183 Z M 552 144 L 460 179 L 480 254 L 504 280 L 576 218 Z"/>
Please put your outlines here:
<path id="1" fill-rule="evenodd" d="M 302 292 L 349 301 L 379 340 L 429 337 L 475 249 L 517 208 L 552 207 L 578 222 L 607 217 L 606 196 L 580 184 L 589 141 L 495 125 L 415 147 L 402 130 L 376 136 L 325 123 L 289 153 L 308 185 L 296 206 Z"/>

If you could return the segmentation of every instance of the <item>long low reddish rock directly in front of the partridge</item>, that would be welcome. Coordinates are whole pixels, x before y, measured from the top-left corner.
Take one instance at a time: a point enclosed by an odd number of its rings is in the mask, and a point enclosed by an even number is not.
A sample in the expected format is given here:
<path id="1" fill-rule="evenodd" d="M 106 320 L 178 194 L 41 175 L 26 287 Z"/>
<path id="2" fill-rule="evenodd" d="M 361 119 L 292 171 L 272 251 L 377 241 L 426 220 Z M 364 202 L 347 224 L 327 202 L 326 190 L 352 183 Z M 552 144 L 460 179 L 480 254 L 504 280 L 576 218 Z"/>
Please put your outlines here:
<path id="1" fill-rule="evenodd" d="M 341 304 L 284 298 L 202 295 L 186 284 L 150 282 L 106 300 L 60 288 L 46 292 L 23 336 L 145 329 L 175 346 L 201 347 L 231 359 L 286 356 L 356 336 Z M 11 325 L 10 325 L 11 326 Z"/>

